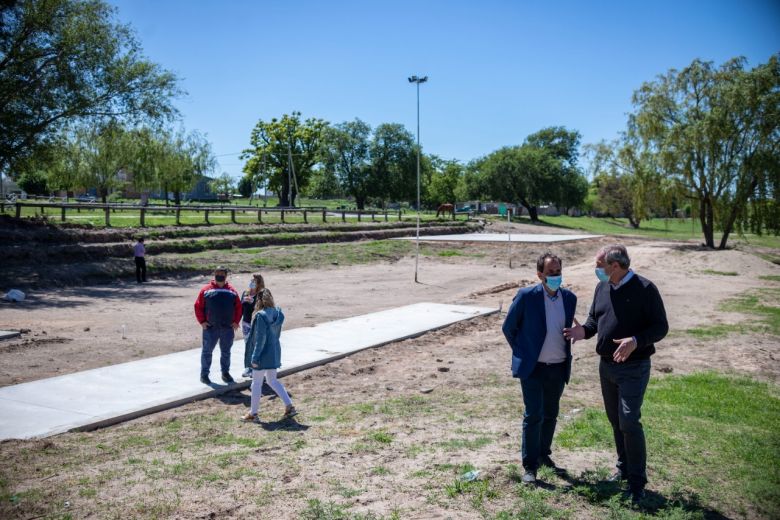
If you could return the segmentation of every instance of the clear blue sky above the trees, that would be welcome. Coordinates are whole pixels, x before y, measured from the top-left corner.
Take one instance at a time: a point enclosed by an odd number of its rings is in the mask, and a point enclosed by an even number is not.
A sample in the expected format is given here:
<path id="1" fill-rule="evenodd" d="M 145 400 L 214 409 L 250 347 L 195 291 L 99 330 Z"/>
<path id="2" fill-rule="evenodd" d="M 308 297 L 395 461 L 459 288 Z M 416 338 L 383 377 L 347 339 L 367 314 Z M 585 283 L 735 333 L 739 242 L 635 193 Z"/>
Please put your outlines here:
<path id="1" fill-rule="evenodd" d="M 258 119 L 293 110 L 416 131 L 468 161 L 545 126 L 617 136 L 642 82 L 694 58 L 780 52 L 778 0 L 110 0 L 149 59 L 181 78 L 187 130 L 235 177 Z"/>

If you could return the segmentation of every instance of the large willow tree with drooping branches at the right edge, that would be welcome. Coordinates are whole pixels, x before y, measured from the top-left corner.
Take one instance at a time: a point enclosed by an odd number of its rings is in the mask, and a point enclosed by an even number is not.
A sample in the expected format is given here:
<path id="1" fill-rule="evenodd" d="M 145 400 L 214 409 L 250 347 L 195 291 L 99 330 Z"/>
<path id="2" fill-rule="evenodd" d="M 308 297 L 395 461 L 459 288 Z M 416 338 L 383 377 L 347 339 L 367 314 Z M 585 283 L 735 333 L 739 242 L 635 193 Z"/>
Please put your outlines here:
<path id="1" fill-rule="evenodd" d="M 704 241 L 719 249 L 735 229 L 777 231 L 780 55 L 752 70 L 735 58 L 694 60 L 634 93 L 638 134 L 699 206 Z"/>

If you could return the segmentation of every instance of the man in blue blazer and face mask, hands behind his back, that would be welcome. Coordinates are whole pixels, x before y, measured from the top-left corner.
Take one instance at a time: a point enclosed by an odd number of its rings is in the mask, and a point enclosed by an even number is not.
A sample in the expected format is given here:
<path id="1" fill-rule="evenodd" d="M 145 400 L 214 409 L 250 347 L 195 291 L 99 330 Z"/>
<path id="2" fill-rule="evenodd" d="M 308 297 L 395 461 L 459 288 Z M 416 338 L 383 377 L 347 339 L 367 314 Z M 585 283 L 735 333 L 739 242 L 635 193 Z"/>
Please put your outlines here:
<path id="1" fill-rule="evenodd" d="M 536 261 L 542 283 L 518 291 L 502 330 L 512 347 L 512 375 L 523 390 L 523 482 L 536 482 L 539 466 L 562 473 L 550 458 L 558 405 L 571 374 L 571 327 L 577 296 L 561 288 L 561 259 L 545 253 Z"/>

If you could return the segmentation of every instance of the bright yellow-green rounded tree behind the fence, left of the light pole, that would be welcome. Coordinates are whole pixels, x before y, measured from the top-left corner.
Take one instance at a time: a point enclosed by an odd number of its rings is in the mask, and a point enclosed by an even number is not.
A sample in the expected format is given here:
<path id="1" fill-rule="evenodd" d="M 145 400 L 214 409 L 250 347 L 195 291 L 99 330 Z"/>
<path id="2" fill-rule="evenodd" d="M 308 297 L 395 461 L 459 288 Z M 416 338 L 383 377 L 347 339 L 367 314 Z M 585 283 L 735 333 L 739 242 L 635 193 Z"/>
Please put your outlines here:
<path id="1" fill-rule="evenodd" d="M 322 119 L 301 121 L 300 112 L 269 122 L 258 121 L 249 139 L 250 148 L 241 154 L 246 160 L 244 173 L 257 184 L 267 182 L 278 194 L 281 206 L 294 206 L 320 158 L 322 133 L 327 126 Z"/>

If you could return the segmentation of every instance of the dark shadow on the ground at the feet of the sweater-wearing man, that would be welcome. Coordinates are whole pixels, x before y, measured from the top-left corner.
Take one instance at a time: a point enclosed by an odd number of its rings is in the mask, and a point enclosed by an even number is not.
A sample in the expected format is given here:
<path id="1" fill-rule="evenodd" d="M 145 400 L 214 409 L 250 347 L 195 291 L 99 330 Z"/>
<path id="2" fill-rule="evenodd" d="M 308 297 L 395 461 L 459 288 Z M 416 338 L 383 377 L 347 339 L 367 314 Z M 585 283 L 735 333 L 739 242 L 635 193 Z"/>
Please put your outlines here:
<path id="1" fill-rule="evenodd" d="M 703 506 L 695 493 L 685 492 L 667 497 L 648 489 L 645 490 L 645 497 L 638 504 L 632 505 L 625 489 L 619 482 L 601 480 L 595 472 L 585 472 L 579 477 L 567 473 L 561 475 L 561 478 L 570 484 L 569 492 L 579 495 L 593 505 L 614 508 L 622 504 L 638 513 L 665 518 L 672 510 L 676 510 L 697 517 L 701 515 L 707 520 L 728 519 L 721 513 Z M 547 486 L 550 485 L 547 484 Z"/>

